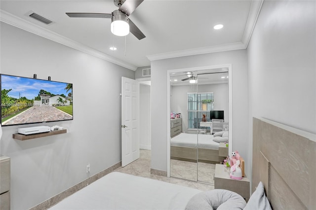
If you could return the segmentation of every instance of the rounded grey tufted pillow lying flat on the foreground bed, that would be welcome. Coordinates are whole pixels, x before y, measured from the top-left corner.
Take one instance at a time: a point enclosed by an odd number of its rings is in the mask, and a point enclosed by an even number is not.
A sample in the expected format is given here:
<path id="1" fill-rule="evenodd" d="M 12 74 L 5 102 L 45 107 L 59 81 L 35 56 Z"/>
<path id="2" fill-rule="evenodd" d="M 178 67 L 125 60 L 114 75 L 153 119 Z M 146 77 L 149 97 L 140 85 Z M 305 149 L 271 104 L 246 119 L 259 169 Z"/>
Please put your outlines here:
<path id="1" fill-rule="evenodd" d="M 245 200 L 235 192 L 223 189 L 197 193 L 186 206 L 186 210 L 242 210 Z"/>

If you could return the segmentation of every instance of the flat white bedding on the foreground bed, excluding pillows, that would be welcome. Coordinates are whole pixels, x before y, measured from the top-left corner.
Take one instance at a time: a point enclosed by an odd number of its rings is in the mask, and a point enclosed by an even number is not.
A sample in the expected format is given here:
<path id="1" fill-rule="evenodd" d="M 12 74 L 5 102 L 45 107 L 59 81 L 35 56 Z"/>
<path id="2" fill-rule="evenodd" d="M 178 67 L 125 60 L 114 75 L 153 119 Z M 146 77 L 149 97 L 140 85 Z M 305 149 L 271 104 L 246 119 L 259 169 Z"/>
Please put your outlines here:
<path id="1" fill-rule="evenodd" d="M 113 172 L 50 210 L 184 210 L 199 192 L 190 187 Z"/>

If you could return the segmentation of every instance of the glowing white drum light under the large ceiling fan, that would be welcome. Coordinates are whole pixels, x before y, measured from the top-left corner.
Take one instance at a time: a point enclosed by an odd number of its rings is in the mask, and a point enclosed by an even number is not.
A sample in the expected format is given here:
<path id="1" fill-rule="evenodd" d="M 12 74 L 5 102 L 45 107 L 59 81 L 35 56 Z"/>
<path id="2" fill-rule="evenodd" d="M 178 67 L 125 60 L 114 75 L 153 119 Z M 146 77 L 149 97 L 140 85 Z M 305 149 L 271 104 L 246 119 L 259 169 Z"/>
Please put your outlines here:
<path id="1" fill-rule="evenodd" d="M 125 36 L 129 34 L 128 17 L 119 10 L 115 10 L 112 16 L 111 32 L 114 35 Z"/>

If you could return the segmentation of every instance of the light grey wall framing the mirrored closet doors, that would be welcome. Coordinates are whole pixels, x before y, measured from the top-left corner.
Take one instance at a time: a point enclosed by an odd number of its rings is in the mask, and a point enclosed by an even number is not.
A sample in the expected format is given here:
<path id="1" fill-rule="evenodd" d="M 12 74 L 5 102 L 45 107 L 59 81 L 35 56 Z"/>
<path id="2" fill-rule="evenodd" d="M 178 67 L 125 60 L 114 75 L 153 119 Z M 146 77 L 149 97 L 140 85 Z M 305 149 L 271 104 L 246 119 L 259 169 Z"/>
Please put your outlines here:
<path id="1" fill-rule="evenodd" d="M 152 169 L 167 171 L 167 70 L 232 64 L 233 149 L 248 161 L 248 93 L 246 50 L 209 53 L 151 62 Z M 246 172 L 251 169 L 246 168 Z"/>

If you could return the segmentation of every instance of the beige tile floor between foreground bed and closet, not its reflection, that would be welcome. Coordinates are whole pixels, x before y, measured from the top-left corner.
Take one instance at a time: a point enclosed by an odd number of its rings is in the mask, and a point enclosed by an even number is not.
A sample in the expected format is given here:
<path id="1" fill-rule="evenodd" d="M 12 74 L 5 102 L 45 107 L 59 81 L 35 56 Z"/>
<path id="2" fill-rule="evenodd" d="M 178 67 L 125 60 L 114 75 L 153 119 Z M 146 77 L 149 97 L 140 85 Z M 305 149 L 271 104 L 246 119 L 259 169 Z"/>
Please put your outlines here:
<path id="1" fill-rule="evenodd" d="M 134 161 L 133 163 L 125 166 L 119 167 L 116 169 L 116 172 L 122 172 L 131 175 L 143 176 L 152 179 L 157 179 L 160 181 L 170 182 L 174 184 L 179 184 L 183 186 L 188 186 L 192 188 L 196 188 L 202 191 L 212 190 L 214 189 L 213 185 L 199 183 L 195 181 L 188 181 L 180 178 L 166 177 L 160 175 L 153 175 L 150 173 L 151 165 L 151 150 L 141 149 L 140 150 L 140 158 Z"/>

